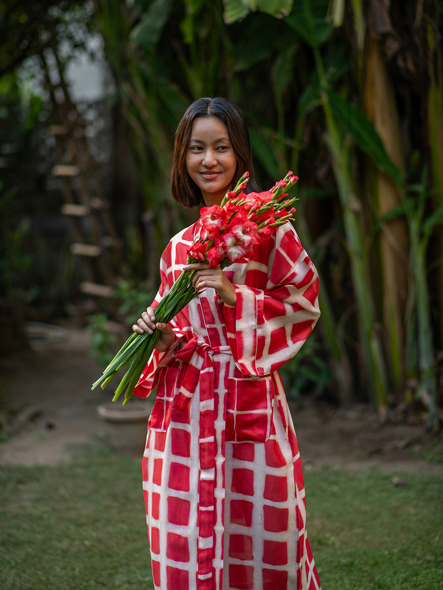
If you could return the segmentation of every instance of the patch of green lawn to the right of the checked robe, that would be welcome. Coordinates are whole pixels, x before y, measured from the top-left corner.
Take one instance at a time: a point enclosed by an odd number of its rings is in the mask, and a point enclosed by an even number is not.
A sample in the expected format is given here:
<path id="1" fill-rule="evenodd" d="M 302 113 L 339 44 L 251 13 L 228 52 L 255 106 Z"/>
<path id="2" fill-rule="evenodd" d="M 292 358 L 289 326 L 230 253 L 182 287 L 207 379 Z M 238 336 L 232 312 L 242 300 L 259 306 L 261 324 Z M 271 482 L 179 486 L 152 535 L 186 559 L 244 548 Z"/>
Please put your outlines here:
<path id="1" fill-rule="evenodd" d="M 305 483 L 323 590 L 443 589 L 442 476 L 322 468 Z"/>

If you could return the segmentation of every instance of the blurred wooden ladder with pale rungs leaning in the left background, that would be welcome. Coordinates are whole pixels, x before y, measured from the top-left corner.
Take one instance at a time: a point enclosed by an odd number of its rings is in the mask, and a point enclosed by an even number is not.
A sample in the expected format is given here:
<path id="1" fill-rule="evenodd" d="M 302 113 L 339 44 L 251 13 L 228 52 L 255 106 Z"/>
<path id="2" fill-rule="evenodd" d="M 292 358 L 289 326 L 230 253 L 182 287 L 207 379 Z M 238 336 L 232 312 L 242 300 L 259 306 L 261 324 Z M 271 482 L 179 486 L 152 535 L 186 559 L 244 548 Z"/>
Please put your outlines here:
<path id="1" fill-rule="evenodd" d="M 84 133 L 86 123 L 71 100 L 57 52 L 53 51 L 53 55 L 59 75 L 57 84 L 51 82 L 45 55 L 40 57 L 53 104 L 54 124 L 49 126 L 48 133 L 55 139 L 57 163 L 51 173 L 61 181 L 61 212 L 72 219 L 76 240 L 70 252 L 79 257 L 82 268 L 80 290 L 91 296 L 112 297 L 119 277 L 126 274 L 123 243 L 103 192 L 100 163 Z"/>

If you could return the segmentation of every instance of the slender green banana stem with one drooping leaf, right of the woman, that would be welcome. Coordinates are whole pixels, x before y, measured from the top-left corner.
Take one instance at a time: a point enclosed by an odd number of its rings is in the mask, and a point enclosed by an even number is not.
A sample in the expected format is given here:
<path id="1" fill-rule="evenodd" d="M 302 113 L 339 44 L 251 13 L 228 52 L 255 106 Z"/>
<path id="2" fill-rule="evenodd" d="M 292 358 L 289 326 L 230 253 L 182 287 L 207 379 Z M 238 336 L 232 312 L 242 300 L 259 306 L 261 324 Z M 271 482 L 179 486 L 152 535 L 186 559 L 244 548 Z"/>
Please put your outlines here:
<path id="1" fill-rule="evenodd" d="M 350 101 L 334 93 L 328 80 L 328 71 L 325 70 L 320 52 L 321 45 L 329 40 L 333 32 L 333 22 L 325 18 L 328 4 L 325 0 L 302 0 L 293 6 L 291 14 L 284 20 L 311 47 L 315 61 L 318 97 L 314 95 L 311 101 L 321 104 L 325 117 L 326 140 L 337 182 L 354 293 L 360 314 L 360 343 L 368 390 L 372 392 L 380 420 L 383 421 L 386 419 L 387 409 L 387 371 L 370 288 L 361 205 L 355 196 L 357 191 L 351 169 L 353 145 L 356 144 L 374 160 L 379 169 L 392 175 L 397 181 L 400 180 L 401 173 L 387 157 L 383 143 L 369 120 Z M 328 306 L 326 309 L 328 310 Z"/>

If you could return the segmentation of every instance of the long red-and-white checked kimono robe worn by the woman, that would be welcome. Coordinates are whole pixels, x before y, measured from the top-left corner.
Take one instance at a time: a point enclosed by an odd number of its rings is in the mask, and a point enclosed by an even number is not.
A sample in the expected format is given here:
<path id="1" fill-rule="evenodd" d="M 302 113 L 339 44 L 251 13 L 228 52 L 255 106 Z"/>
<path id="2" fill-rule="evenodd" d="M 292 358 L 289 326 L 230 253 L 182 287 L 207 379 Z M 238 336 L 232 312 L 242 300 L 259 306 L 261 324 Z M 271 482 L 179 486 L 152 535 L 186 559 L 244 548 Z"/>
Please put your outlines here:
<path id="1" fill-rule="evenodd" d="M 198 222 L 161 258 L 155 307 L 180 276 Z M 289 222 L 171 322 L 133 393 L 157 386 L 142 470 L 158 590 L 318 590 L 300 455 L 277 369 L 317 322 L 318 276 Z"/>

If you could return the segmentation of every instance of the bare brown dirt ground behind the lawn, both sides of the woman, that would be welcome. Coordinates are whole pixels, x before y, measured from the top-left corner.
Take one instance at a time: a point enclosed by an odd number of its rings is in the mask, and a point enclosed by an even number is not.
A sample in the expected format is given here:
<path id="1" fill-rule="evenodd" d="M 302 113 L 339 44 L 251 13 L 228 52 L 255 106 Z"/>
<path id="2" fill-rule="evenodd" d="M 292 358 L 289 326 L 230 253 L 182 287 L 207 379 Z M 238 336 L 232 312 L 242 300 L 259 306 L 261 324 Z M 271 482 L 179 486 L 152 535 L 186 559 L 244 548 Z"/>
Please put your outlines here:
<path id="1" fill-rule="evenodd" d="M 69 328 L 0 359 L 2 405 L 30 415 L 0 443 L 0 464 L 54 465 L 70 460 L 79 446 L 108 440 L 111 425 L 96 408 L 110 401 L 112 389 L 90 390 L 100 368 L 88 355 L 89 340 L 88 333 Z M 294 403 L 291 412 L 305 468 L 376 464 L 386 470 L 443 473 L 443 464 L 435 461 L 441 439 L 426 434 L 423 425 L 380 427 L 367 407 L 335 410 Z M 425 461 L 426 452 L 434 461 Z"/>

